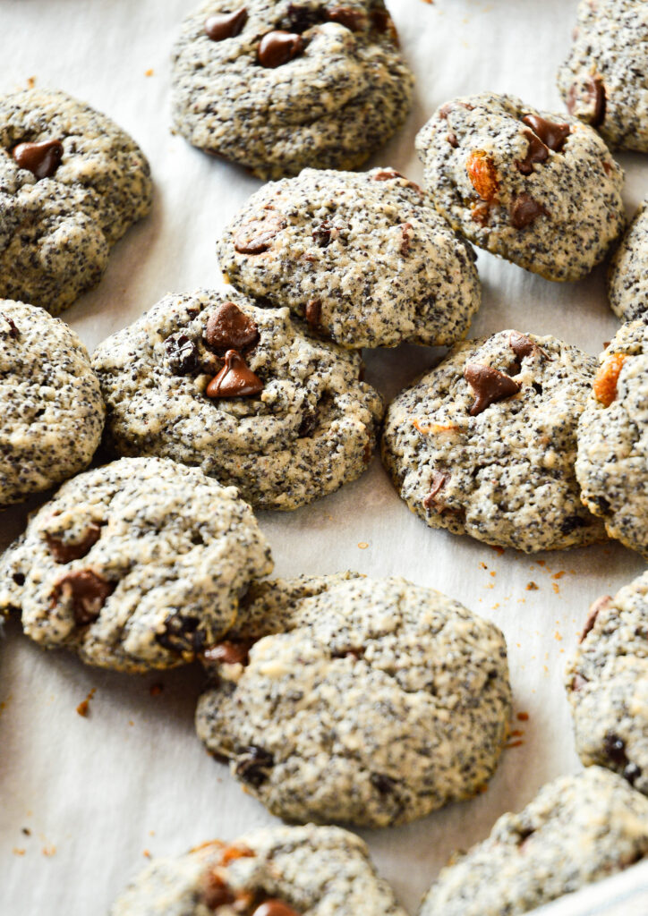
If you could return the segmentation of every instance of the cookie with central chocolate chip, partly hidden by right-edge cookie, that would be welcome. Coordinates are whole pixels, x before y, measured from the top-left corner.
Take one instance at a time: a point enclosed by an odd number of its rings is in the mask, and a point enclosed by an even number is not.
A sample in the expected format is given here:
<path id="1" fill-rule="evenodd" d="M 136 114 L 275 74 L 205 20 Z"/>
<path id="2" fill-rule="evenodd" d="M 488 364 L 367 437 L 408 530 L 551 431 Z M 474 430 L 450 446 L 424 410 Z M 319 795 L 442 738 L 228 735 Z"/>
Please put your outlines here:
<path id="1" fill-rule="evenodd" d="M 430 528 L 527 553 L 604 540 L 574 473 L 595 369 L 555 337 L 457 344 L 387 410 L 382 457 L 401 497 Z"/>

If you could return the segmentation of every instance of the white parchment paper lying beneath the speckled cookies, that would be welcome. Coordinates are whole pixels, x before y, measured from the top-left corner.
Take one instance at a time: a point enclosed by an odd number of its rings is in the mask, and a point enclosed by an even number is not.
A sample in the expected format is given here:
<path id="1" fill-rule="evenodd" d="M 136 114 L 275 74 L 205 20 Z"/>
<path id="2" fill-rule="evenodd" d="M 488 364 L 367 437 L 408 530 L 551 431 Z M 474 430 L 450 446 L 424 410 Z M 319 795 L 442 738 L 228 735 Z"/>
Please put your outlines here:
<path id="1" fill-rule="evenodd" d="M 388 0 L 389 2 L 389 0 Z M 156 182 L 153 213 L 115 246 L 98 289 L 63 317 L 90 349 L 170 290 L 219 281 L 214 242 L 259 182 L 169 131 L 170 45 L 193 0 L 0 0 L 0 91 L 58 86 L 110 114 L 136 137 Z M 417 76 L 412 116 L 371 165 L 421 178 L 418 128 L 448 98 L 510 92 L 562 111 L 555 70 L 566 56 L 576 2 L 390 0 Z M 147 73 L 149 75 L 147 75 Z M 621 156 L 629 212 L 646 191 L 648 159 Z M 618 327 L 603 271 L 558 285 L 484 253 L 484 303 L 471 336 L 516 327 L 599 353 Z M 388 398 L 433 361 L 426 348 L 367 354 L 368 380 Z M 0 517 L 0 547 L 24 510 Z M 285 514 L 263 513 L 276 573 L 400 574 L 439 588 L 495 620 L 509 645 L 521 742 L 489 790 L 416 823 L 365 831 L 381 873 L 415 911 L 456 847 L 482 839 L 500 813 L 578 767 L 562 686 L 589 603 L 643 572 L 618 544 L 526 557 L 426 529 L 377 459 L 334 496 Z M 537 591 L 527 590 L 533 582 Z M 245 795 L 194 736 L 197 668 L 129 678 L 44 653 L 16 623 L 0 644 L 0 913 L 87 916 L 107 910 L 148 856 L 233 838 L 273 818 Z M 160 689 L 161 685 L 161 689 Z M 153 688 L 151 690 L 151 688 Z M 95 691 L 90 714 L 76 706 Z M 528 714 L 528 719 L 524 716 Z M 636 869 L 639 874 L 639 869 Z M 627 878 L 624 878 L 627 880 Z"/>

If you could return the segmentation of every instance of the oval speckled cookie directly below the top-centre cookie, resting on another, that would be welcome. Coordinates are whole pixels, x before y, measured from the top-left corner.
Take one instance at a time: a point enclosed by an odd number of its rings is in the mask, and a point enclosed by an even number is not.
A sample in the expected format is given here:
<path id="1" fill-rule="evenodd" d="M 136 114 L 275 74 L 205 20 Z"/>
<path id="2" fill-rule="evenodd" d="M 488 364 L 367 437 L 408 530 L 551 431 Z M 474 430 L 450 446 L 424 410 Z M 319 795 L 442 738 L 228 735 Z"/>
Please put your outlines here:
<path id="1" fill-rule="evenodd" d="M 271 182 L 217 251 L 237 289 L 349 347 L 454 344 L 481 299 L 472 249 L 394 169 Z"/>

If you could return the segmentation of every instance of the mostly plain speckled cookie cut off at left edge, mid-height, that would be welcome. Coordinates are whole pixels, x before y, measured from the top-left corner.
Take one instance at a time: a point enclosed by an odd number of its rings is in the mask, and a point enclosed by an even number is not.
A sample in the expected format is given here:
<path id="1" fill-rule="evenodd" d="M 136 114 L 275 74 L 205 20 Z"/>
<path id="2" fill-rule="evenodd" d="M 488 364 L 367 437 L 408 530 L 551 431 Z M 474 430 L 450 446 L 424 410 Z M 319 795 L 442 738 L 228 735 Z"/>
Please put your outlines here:
<path id="1" fill-rule="evenodd" d="M 42 309 L 0 300 L 0 507 L 82 471 L 103 428 L 77 335 Z"/>

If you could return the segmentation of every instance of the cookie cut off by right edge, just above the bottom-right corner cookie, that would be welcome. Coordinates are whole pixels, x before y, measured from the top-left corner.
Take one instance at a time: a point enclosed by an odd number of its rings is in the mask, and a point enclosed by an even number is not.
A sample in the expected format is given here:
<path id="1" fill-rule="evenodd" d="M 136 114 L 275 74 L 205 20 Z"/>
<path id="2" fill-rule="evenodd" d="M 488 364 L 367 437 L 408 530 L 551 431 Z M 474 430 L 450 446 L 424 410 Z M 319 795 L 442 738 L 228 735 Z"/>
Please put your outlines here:
<path id="1" fill-rule="evenodd" d="M 591 606 L 566 671 L 576 746 L 648 795 L 648 573 Z"/>

